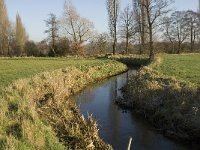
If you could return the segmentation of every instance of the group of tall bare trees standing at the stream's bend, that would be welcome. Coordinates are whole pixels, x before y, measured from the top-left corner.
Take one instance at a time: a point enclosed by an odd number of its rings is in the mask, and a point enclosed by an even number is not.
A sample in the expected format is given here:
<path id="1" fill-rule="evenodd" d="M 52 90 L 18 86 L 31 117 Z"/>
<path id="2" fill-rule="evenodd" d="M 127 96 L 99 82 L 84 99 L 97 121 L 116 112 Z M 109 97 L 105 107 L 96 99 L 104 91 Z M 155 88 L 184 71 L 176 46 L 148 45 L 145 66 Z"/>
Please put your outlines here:
<path id="1" fill-rule="evenodd" d="M 170 0 L 133 0 L 133 8 L 127 6 L 121 14 L 121 33 L 126 39 L 126 53 L 132 36 L 138 37 L 140 53 L 144 51 L 148 42 L 150 60 L 154 59 L 154 34 L 163 23 L 161 18 L 169 12 Z M 109 27 L 113 37 L 113 54 L 115 54 L 117 37 L 117 18 L 119 0 L 107 0 Z"/>

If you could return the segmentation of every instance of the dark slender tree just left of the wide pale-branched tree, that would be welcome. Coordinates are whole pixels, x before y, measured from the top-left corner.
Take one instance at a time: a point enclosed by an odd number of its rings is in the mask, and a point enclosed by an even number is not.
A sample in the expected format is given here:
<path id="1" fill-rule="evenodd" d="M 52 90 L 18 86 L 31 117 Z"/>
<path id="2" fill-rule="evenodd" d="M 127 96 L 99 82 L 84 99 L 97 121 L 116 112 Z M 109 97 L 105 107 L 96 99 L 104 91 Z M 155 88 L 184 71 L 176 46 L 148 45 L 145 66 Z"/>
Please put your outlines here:
<path id="1" fill-rule="evenodd" d="M 55 49 L 56 49 L 56 40 L 59 37 L 58 31 L 59 31 L 59 21 L 57 20 L 57 17 L 55 14 L 50 13 L 49 19 L 45 21 L 47 30 L 45 30 L 45 33 L 48 34 L 48 40 L 50 40 L 50 48 L 53 52 L 53 56 L 56 55 Z"/>

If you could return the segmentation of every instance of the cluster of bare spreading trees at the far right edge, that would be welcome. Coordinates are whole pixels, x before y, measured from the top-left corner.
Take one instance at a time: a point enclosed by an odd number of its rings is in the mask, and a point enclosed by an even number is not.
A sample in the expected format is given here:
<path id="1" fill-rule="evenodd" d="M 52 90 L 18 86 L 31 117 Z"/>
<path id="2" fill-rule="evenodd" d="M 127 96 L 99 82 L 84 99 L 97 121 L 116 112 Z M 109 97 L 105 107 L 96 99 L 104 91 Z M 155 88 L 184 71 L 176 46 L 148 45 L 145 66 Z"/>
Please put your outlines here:
<path id="1" fill-rule="evenodd" d="M 193 11 L 176 11 L 164 18 L 164 39 L 171 45 L 171 53 L 180 53 L 185 42 L 190 43 L 194 52 L 195 43 L 200 36 L 200 16 Z"/>

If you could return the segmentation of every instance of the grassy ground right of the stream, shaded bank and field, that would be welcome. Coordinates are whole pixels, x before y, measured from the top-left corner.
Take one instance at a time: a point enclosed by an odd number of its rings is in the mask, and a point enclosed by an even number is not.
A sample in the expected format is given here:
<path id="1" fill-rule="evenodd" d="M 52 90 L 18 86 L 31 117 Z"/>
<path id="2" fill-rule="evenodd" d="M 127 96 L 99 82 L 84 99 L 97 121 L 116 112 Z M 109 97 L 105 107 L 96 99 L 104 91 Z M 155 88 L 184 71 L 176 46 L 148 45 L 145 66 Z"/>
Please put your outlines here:
<path id="1" fill-rule="evenodd" d="M 196 65 L 200 65 L 195 55 L 164 55 L 154 64 L 141 68 L 124 87 L 124 99 L 118 103 L 134 108 L 165 135 L 197 146 L 200 141 L 200 88 L 197 79 L 189 78 L 196 66 L 191 66 L 192 62 L 184 63 L 184 59 L 187 62 L 193 57 Z M 194 73 L 196 78 L 200 78 L 198 71 Z M 170 76 L 172 74 L 174 77 Z"/>

